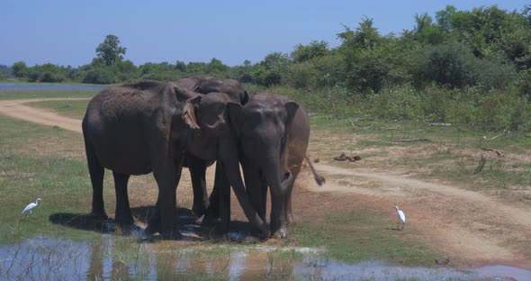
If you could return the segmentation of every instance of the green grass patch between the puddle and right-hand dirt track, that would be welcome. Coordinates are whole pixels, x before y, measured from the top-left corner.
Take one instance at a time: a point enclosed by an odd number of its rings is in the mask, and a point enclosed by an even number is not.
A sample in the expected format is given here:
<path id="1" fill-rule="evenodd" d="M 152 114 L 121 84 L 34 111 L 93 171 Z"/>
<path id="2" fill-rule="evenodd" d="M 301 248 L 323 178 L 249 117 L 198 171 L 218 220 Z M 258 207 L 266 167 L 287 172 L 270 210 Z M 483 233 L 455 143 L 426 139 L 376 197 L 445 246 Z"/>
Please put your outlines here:
<path id="1" fill-rule="evenodd" d="M 404 266 L 432 266 L 442 253 L 418 240 L 407 231 L 392 231 L 388 213 L 356 211 L 335 213 L 320 222 L 302 222 L 293 226 L 292 239 L 306 247 L 329 250 L 329 258 L 356 263 L 386 260 Z"/>

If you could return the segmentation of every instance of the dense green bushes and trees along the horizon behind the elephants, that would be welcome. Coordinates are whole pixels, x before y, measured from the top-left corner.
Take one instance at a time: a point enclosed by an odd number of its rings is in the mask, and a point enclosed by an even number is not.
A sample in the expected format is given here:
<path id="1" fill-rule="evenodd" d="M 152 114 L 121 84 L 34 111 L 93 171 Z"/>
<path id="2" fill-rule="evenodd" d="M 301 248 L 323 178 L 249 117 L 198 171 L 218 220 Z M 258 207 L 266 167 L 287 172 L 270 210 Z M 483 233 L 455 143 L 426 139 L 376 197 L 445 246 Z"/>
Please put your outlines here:
<path id="1" fill-rule="evenodd" d="M 123 60 L 126 49 L 108 35 L 91 64 L 28 68 L 17 62 L 12 68 L 14 77 L 29 81 L 95 84 L 211 75 L 292 95 L 317 113 L 531 130 L 530 5 L 521 11 L 448 5 L 434 17 L 416 14 L 413 20 L 412 30 L 383 35 L 365 17 L 356 28 L 344 26 L 337 48 L 311 41 L 290 54 L 273 52 L 235 67 L 219 59 L 137 67 Z"/>

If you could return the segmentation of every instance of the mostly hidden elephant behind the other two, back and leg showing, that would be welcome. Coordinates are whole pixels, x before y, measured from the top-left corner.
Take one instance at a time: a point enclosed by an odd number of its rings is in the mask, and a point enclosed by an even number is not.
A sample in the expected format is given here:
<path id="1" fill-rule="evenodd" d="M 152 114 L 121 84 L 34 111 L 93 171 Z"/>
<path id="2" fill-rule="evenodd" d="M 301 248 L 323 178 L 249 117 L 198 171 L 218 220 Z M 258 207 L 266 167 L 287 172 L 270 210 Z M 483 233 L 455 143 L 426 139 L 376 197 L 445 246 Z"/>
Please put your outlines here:
<path id="1" fill-rule="evenodd" d="M 234 79 L 195 76 L 182 78 L 174 81 L 174 83 L 177 86 L 192 90 L 196 93 L 224 93 L 229 96 L 230 102 L 237 104 L 246 104 L 249 99 L 247 91 L 237 80 Z M 206 189 L 205 174 L 207 167 L 211 164 L 211 162 L 198 159 L 191 154 L 187 155 L 184 160 L 184 167 L 189 168 L 190 177 L 192 179 L 192 211 L 197 217 L 201 217 L 210 206 L 210 200 Z M 216 169 L 220 169 L 218 164 L 216 164 Z"/>

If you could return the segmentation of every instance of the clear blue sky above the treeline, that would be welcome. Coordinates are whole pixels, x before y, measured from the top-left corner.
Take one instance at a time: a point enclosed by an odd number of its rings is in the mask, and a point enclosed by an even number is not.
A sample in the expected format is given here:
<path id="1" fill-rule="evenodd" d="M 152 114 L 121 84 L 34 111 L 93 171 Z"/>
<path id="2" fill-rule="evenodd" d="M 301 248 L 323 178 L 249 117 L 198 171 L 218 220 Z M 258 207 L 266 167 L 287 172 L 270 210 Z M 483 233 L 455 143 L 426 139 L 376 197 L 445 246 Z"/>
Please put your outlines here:
<path id="1" fill-rule="evenodd" d="M 324 0 L 125 1 L 4 0 L 0 9 L 0 64 L 90 63 L 106 34 L 127 48 L 125 59 L 204 61 L 230 66 L 256 63 L 299 43 L 338 46 L 342 24 L 355 28 L 364 15 L 381 34 L 412 29 L 413 15 L 434 15 L 446 5 L 471 10 L 498 5 L 520 11 L 528 1 Z"/>

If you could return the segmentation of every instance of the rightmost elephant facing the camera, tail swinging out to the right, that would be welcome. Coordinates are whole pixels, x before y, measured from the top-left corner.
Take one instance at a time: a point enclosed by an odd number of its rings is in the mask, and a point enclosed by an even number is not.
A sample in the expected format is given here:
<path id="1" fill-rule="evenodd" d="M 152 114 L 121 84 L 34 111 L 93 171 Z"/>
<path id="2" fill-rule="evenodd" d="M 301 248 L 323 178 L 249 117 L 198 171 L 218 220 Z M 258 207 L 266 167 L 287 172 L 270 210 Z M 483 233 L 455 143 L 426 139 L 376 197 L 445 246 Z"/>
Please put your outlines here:
<path id="1" fill-rule="evenodd" d="M 294 181 L 306 158 L 310 138 L 308 114 L 288 97 L 270 93 L 252 95 L 243 107 L 229 104 L 229 111 L 231 126 L 238 137 L 247 192 L 258 215 L 266 222 L 269 187 L 272 236 L 285 238 L 286 226 L 293 222 Z M 311 161 L 308 163 L 311 165 Z M 324 183 L 313 167 L 311 170 L 317 183 Z"/>

